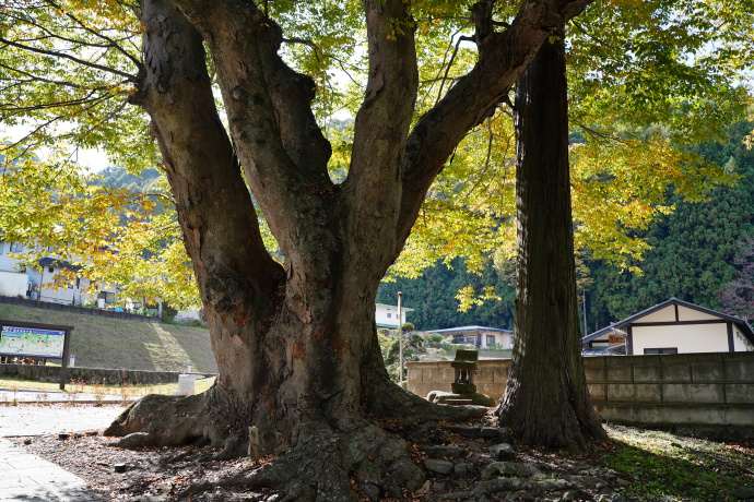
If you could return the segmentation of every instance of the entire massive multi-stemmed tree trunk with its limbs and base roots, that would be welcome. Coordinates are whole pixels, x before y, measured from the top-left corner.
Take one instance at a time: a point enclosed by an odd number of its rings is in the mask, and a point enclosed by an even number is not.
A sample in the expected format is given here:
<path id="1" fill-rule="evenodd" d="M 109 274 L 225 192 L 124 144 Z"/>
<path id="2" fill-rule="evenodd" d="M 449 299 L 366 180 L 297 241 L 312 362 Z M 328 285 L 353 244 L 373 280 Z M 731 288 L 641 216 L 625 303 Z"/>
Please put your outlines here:
<path id="1" fill-rule="evenodd" d="M 389 33 L 392 21 L 410 21 L 410 3 L 366 0 L 369 77 L 349 175 L 334 184 L 330 145 L 310 108 L 314 83 L 278 56 L 273 20 L 246 0 L 143 0 L 144 67 L 131 103 L 152 118 L 219 376 L 200 396 L 143 398 L 107 433 L 141 433 L 131 445 L 199 441 L 229 457 L 246 453 L 256 427 L 260 453 L 282 456 L 244 482 L 295 500 L 357 500 L 349 480 L 356 467 L 382 489 L 388 471 L 388 485 L 417 487 L 408 445 L 370 419 L 474 411 L 429 405 L 390 383 L 374 320 L 379 280 L 452 148 L 508 95 L 547 29 L 589 1 L 528 1 L 503 33 L 493 31 L 492 2 L 475 4 L 478 64 L 410 130 L 413 34 Z M 244 177 L 284 265 L 262 246 Z"/>

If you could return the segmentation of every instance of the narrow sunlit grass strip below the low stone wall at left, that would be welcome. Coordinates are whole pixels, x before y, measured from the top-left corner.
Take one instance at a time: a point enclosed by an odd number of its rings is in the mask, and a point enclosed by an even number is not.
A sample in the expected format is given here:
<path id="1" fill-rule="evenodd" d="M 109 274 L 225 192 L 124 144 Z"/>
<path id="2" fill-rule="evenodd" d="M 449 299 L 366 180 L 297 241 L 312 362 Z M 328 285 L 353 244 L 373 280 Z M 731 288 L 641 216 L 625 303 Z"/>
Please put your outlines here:
<path id="1" fill-rule="evenodd" d="M 197 380 L 195 383 L 196 393 L 200 394 L 212 386 L 215 378 Z M 59 383 L 37 382 L 34 380 L 17 380 L 0 378 L 0 387 L 12 390 L 28 390 L 42 392 L 60 392 Z M 102 385 L 102 384 L 83 384 L 71 382 L 66 384 L 66 391 L 71 393 L 86 393 L 94 395 L 125 395 L 127 397 L 145 396 L 146 394 L 165 394 L 172 395 L 174 391 L 178 391 L 178 382 L 176 383 L 155 383 L 155 384 L 127 384 L 127 385 Z"/>

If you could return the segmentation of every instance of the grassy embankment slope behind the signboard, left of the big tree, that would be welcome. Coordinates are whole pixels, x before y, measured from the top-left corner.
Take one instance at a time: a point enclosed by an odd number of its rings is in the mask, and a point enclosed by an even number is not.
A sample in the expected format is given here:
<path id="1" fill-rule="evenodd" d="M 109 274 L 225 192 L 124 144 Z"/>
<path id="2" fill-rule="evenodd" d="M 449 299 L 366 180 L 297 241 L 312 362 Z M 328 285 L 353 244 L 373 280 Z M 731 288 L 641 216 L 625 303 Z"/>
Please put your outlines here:
<path id="1" fill-rule="evenodd" d="M 73 326 L 71 354 L 82 368 L 214 373 L 217 366 L 207 328 L 55 312 L 0 304 L 3 321 Z"/>

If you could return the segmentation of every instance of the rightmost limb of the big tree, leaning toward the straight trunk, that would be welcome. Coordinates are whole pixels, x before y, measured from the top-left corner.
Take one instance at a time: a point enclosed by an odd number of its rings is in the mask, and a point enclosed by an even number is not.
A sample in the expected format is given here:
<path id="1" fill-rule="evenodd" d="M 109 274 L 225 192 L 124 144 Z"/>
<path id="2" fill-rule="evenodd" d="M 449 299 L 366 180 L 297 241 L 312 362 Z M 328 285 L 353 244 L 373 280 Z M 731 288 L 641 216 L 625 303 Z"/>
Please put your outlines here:
<path id="1" fill-rule="evenodd" d="M 407 140 L 398 250 L 453 147 L 508 96 L 518 75 L 547 39 L 549 29 L 579 14 L 591 1 L 529 0 L 503 33 L 494 31 L 490 0 L 474 4 L 479 61 L 419 120 Z"/>

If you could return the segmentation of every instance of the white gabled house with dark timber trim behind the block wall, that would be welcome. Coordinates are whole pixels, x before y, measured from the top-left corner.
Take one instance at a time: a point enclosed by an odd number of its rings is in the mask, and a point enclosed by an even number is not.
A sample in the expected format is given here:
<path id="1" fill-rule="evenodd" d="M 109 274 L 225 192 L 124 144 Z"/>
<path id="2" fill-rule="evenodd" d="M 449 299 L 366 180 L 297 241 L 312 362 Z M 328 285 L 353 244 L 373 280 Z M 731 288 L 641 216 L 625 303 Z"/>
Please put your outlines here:
<path id="1" fill-rule="evenodd" d="M 581 338 L 585 355 L 754 350 L 746 321 L 671 298 Z"/>

